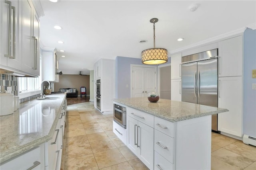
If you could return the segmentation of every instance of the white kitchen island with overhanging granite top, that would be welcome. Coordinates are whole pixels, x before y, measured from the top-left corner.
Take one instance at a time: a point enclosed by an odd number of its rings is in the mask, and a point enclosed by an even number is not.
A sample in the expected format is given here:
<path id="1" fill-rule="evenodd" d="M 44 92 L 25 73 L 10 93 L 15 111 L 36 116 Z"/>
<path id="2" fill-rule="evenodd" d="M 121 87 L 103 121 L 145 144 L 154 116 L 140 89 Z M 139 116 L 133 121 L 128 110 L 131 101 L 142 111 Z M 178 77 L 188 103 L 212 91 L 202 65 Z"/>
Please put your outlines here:
<path id="1" fill-rule="evenodd" d="M 201 170 L 211 168 L 211 115 L 228 111 L 217 107 L 160 99 L 114 99 L 126 107 L 126 129 L 113 131 L 150 169 Z M 224 114 L 224 113 L 223 113 Z M 118 133 L 116 133 L 118 134 Z"/>

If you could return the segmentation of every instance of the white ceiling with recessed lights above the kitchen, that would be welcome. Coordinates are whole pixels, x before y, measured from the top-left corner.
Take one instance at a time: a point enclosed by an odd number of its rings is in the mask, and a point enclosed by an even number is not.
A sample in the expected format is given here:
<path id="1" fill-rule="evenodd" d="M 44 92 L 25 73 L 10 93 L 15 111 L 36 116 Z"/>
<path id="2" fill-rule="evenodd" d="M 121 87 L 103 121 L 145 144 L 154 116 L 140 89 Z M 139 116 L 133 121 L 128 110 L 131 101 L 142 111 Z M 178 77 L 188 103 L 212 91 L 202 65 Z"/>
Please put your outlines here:
<path id="1" fill-rule="evenodd" d="M 41 0 L 41 4 L 40 41 L 43 48 L 57 49 L 63 74 L 89 74 L 101 58 L 140 58 L 141 51 L 153 47 L 151 18 L 159 20 L 156 47 L 167 49 L 169 57 L 182 47 L 256 23 L 255 0 Z M 192 4 L 199 4 L 195 12 L 189 9 Z M 184 41 L 177 41 L 180 37 Z"/>

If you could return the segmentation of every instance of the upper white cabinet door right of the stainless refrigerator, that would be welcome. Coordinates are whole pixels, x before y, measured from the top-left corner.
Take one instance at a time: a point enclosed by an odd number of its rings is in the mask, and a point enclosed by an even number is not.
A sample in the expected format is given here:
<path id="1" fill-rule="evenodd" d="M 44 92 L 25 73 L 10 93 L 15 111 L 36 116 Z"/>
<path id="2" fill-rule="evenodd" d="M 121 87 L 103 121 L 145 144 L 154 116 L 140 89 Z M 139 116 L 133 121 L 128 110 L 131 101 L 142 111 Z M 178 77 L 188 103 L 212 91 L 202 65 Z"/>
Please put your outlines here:
<path id="1" fill-rule="evenodd" d="M 233 37 L 218 43 L 218 77 L 242 76 L 243 36 Z"/>

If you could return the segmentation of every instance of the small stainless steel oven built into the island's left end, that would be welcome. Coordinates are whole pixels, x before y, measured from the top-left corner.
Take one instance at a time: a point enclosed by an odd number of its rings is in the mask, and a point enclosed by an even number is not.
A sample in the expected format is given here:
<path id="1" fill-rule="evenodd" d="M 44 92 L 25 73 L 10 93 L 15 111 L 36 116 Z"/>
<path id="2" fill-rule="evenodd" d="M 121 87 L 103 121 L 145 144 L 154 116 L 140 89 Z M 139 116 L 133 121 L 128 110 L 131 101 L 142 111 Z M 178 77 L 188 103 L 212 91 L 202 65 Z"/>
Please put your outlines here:
<path id="1" fill-rule="evenodd" d="M 114 121 L 126 129 L 126 108 L 114 104 Z"/>

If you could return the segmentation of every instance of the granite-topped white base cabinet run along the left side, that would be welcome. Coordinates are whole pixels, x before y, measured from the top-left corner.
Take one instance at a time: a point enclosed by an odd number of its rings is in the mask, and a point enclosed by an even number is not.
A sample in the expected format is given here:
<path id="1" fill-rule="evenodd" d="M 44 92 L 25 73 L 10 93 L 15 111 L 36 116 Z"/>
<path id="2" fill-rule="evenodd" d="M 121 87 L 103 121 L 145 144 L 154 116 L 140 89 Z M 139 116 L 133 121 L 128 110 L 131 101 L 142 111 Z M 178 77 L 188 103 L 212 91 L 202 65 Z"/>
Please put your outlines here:
<path id="1" fill-rule="evenodd" d="M 22 156 L 28 155 L 29 152 L 33 152 L 34 157 L 39 152 L 38 159 L 41 161 L 38 161 L 40 162 L 38 169 L 45 169 L 46 167 L 55 169 L 57 163 L 60 164 L 57 159 L 61 157 L 62 150 L 58 148 L 62 148 L 66 94 L 51 94 L 46 95 L 46 97 L 48 98 L 45 100 L 31 100 L 22 103 L 20 109 L 14 111 L 13 114 L 0 117 L 1 169 L 3 167 L 3 169 L 12 169 L 9 164 L 13 160 L 18 160 L 15 163 L 21 163 L 21 166 L 18 167 L 23 169 L 23 159 L 19 159 L 22 157 L 25 160 L 29 159 L 28 156 Z M 55 149 L 59 150 L 59 158 L 55 154 Z M 54 151 L 54 155 L 50 153 L 51 150 Z M 26 161 L 24 162 L 27 164 Z M 33 166 L 33 163 L 27 164 L 28 167 L 24 169 Z M 53 164 L 52 167 L 51 163 Z"/>

